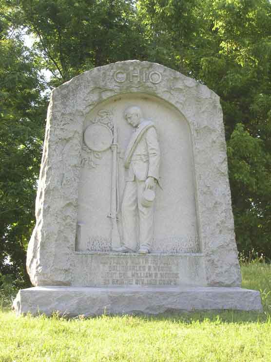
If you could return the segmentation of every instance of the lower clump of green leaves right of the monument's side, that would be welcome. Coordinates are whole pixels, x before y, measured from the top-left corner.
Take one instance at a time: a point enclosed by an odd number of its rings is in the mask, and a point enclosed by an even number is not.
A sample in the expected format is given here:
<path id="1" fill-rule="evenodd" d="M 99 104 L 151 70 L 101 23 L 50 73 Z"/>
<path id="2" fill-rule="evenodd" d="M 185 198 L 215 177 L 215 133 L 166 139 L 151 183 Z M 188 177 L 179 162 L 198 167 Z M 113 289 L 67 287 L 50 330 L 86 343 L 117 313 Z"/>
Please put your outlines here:
<path id="1" fill-rule="evenodd" d="M 228 142 L 235 232 L 239 247 L 270 257 L 271 154 L 265 143 L 237 124 Z"/>

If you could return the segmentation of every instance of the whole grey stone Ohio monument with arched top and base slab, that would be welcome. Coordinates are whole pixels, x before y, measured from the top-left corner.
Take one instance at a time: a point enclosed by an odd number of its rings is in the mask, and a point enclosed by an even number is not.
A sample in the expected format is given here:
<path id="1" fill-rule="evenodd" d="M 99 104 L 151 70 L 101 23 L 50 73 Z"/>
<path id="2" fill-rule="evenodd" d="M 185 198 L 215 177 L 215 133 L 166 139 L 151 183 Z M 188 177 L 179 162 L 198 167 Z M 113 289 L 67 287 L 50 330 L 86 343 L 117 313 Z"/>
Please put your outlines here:
<path id="1" fill-rule="evenodd" d="M 20 313 L 258 310 L 241 289 L 219 97 L 160 64 L 51 94 Z"/>

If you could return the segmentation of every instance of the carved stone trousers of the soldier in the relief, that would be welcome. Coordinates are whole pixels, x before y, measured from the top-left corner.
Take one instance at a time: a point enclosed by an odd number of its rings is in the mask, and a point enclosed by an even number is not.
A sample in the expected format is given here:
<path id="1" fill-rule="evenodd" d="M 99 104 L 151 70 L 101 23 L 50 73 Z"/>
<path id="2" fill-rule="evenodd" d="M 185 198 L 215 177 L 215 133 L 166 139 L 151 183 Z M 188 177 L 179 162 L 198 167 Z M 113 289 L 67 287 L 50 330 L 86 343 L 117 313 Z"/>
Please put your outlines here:
<path id="1" fill-rule="evenodd" d="M 132 251 L 137 248 L 137 233 L 139 247 L 150 249 L 154 237 L 154 203 L 150 207 L 141 205 L 144 189 L 145 181 L 139 181 L 136 177 L 134 181 L 125 183 L 121 205 L 123 244 Z"/>

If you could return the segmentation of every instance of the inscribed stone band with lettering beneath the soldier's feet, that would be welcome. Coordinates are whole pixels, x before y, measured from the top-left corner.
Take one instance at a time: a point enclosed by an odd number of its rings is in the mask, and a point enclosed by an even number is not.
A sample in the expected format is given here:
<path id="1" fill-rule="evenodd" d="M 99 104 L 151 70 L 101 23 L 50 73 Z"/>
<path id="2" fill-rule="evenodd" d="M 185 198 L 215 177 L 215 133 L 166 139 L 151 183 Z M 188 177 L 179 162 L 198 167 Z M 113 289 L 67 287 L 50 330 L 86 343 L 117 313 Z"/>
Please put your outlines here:
<path id="1" fill-rule="evenodd" d="M 73 286 L 203 286 L 207 285 L 202 254 L 119 255 L 77 253 Z"/>

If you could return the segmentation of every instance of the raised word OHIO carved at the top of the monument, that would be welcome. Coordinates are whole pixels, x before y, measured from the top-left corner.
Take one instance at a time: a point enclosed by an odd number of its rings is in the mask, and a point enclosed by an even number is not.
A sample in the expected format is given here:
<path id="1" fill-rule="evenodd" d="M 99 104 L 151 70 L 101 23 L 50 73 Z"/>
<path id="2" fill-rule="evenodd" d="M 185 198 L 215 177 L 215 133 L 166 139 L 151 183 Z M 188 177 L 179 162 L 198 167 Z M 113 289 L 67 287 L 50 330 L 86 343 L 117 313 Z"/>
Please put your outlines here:
<path id="1" fill-rule="evenodd" d="M 139 70 L 117 70 L 113 74 L 113 78 L 117 83 L 129 82 L 146 82 L 150 81 L 153 84 L 158 84 L 162 80 L 162 74 L 153 70 L 151 72 Z"/>

